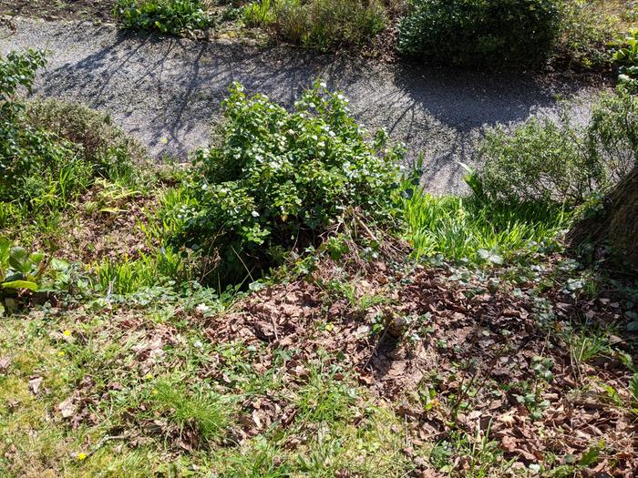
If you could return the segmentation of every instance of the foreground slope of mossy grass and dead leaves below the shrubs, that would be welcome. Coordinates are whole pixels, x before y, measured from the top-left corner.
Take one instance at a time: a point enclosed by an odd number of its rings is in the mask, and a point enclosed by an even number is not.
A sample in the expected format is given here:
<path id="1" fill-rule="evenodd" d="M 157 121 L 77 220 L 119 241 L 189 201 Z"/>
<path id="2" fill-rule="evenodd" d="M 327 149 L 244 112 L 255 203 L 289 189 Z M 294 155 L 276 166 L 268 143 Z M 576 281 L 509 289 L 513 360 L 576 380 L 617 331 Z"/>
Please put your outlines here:
<path id="1" fill-rule="evenodd" d="M 571 297 L 558 256 L 523 277 L 360 252 L 234 300 L 5 318 L 0 474 L 635 476 L 624 300 Z"/>

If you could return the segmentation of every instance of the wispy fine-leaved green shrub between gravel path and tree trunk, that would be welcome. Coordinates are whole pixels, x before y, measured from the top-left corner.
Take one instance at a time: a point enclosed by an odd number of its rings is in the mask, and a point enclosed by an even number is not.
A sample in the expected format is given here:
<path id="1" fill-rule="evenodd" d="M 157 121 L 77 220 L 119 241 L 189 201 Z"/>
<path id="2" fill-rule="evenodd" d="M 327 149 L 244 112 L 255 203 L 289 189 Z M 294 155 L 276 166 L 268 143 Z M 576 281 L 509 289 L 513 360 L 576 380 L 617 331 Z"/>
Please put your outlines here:
<path id="1" fill-rule="evenodd" d="M 558 122 L 532 118 L 513 133 L 489 131 L 479 147 L 483 193 L 493 200 L 576 206 L 606 190 L 638 158 L 637 101 L 622 91 L 603 95 L 582 127 L 565 112 Z"/>

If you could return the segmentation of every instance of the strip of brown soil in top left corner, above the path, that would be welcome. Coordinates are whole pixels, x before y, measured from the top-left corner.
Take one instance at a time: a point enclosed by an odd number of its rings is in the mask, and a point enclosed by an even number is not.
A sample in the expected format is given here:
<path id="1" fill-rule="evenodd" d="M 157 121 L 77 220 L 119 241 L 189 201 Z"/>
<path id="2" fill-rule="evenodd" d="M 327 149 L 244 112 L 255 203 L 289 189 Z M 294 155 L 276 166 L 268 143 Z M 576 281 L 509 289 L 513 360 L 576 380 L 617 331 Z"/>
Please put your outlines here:
<path id="1" fill-rule="evenodd" d="M 0 0 L 0 15 L 19 15 L 45 20 L 113 22 L 117 0 Z"/>

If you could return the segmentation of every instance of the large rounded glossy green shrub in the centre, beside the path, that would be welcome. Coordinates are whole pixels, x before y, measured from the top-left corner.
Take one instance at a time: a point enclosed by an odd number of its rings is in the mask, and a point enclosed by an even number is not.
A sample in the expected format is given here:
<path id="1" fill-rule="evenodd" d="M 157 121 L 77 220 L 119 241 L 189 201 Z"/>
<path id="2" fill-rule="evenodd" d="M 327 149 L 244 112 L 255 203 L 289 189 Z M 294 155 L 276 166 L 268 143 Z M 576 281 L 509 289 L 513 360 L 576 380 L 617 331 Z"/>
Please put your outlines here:
<path id="1" fill-rule="evenodd" d="M 178 208 L 182 241 L 219 254 L 223 280 L 314 242 L 346 208 L 392 219 L 403 150 L 383 133 L 369 144 L 340 94 L 315 84 L 288 112 L 235 84 L 223 114 L 219 139 L 195 155 L 190 205 Z"/>

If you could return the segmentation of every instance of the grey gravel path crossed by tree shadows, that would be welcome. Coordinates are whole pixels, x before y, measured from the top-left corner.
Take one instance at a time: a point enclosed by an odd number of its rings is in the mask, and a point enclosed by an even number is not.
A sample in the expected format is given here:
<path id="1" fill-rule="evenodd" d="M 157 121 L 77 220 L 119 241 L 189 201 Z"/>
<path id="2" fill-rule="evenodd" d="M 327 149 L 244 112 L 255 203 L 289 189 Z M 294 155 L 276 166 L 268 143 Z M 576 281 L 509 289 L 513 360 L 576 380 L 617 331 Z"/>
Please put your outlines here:
<path id="1" fill-rule="evenodd" d="M 111 25 L 23 18 L 14 23 L 14 32 L 0 32 L 3 54 L 26 47 L 50 51 L 36 94 L 108 111 L 157 158 L 186 158 L 207 143 L 211 117 L 232 81 L 290 105 L 304 86 L 322 77 L 345 92 L 366 127 L 386 127 L 394 140 L 406 142 L 411 159 L 423 153 L 425 183 L 435 192 L 463 188 L 456 160 L 472 162 L 484 127 L 555 113 L 558 93 L 571 98 L 574 115 L 584 117 L 595 93 L 589 86 L 549 86 L 525 75 L 381 65 L 287 47 L 158 39 L 121 33 Z"/>

